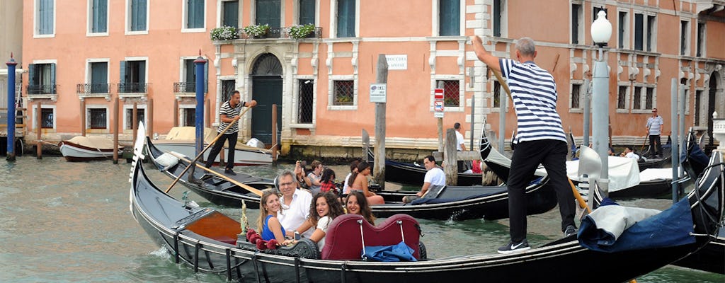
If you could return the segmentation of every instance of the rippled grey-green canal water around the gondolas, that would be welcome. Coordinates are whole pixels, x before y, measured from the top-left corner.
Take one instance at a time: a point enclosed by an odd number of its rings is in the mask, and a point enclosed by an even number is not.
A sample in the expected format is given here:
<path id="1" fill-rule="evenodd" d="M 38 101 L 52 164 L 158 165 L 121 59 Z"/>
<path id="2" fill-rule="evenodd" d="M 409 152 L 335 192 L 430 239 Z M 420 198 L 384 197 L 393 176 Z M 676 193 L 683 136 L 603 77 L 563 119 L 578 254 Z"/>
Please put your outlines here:
<path id="1" fill-rule="evenodd" d="M 338 180 L 347 166 L 331 166 Z M 280 167 L 236 167 L 239 172 L 272 177 Z M 159 187 L 171 179 L 146 166 Z M 0 161 L 0 282 L 224 282 L 220 276 L 194 274 L 173 263 L 152 243 L 128 211 L 130 164 L 112 161 L 70 163 L 60 157 L 22 156 L 13 163 Z M 416 187 L 407 187 L 417 189 Z M 170 191 L 181 198 L 186 189 Z M 212 206 L 189 194 L 202 206 Z M 666 208 L 671 200 L 622 201 L 630 206 Z M 239 218 L 239 208 L 219 208 Z M 249 210 L 249 219 L 258 212 Z M 561 236 L 558 208 L 529 216 L 529 242 L 542 245 Z M 429 258 L 495 253 L 508 241 L 508 221 L 421 220 Z M 637 258 L 631 258 L 637 264 Z M 562 266 L 566 269 L 597 266 Z M 616 272 L 608 270 L 603 272 Z M 596 278 L 595 274 L 592 274 Z M 572 281 L 586 279 L 572 279 Z M 545 281 L 545 279 L 544 279 Z M 725 282 L 725 276 L 676 266 L 666 266 L 638 278 L 638 282 Z"/>

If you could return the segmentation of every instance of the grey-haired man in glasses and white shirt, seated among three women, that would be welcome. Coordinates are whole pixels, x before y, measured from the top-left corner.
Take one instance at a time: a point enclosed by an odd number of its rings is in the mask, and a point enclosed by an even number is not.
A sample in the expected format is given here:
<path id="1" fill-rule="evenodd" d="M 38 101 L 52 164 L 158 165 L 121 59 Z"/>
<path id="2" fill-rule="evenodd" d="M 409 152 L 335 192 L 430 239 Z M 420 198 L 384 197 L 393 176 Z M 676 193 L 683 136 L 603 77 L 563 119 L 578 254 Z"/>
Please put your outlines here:
<path id="1" fill-rule="evenodd" d="M 312 195 L 297 188 L 294 173 L 289 170 L 279 175 L 278 182 L 279 191 L 282 193 L 282 197 L 279 199 L 282 209 L 277 214 L 277 219 L 287 232 L 287 236 L 294 237 L 294 229 L 302 225 L 302 222 L 307 220 L 307 216 L 310 216 Z M 308 230 L 302 235 L 310 237 L 312 232 L 312 230 Z"/>

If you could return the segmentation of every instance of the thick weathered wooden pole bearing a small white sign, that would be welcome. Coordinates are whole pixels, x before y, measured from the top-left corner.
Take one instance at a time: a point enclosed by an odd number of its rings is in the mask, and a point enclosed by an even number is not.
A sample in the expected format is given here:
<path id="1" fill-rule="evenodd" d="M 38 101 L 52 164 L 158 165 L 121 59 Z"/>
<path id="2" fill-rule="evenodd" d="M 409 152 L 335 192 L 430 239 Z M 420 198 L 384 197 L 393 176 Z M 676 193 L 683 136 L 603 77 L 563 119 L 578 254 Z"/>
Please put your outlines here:
<path id="1" fill-rule="evenodd" d="M 385 54 L 378 54 L 376 83 L 388 83 L 388 60 Z M 387 94 L 386 94 L 387 95 Z M 385 189 L 385 111 L 386 103 L 375 103 L 375 167 L 373 178 Z"/>

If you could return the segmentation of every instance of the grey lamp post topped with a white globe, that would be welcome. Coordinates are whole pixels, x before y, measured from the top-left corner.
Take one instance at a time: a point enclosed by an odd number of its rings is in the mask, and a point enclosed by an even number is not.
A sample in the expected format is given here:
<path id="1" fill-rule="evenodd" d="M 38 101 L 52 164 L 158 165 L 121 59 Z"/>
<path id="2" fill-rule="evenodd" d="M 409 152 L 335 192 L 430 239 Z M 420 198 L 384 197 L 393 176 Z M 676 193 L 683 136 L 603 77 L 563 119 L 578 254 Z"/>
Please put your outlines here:
<path id="1" fill-rule="evenodd" d="M 607 14 L 600 10 L 597 20 L 592 23 L 592 41 L 599 46 L 599 58 L 594 64 L 592 74 L 592 140 L 594 149 L 602 159 L 600 182 L 605 195 L 609 195 L 609 70 L 604 57 L 604 46 L 612 36 L 612 24 L 606 19 Z M 592 195 L 592 194 L 590 194 Z"/>

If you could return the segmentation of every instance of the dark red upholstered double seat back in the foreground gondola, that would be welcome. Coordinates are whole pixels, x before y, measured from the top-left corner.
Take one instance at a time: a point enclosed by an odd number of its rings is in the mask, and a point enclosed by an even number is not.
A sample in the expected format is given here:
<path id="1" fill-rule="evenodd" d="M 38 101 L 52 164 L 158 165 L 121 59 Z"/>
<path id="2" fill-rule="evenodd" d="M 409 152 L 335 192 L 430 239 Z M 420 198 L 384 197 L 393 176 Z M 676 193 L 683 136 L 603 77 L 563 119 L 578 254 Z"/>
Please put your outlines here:
<path id="1" fill-rule="evenodd" d="M 325 235 L 325 247 L 321 252 L 322 259 L 331 260 L 360 260 L 363 253 L 363 237 L 360 237 L 360 223 L 362 220 L 363 236 L 366 246 L 375 245 L 396 245 L 405 235 L 405 244 L 413 248 L 413 256 L 421 258 L 421 250 L 418 242 L 421 240 L 421 232 L 418 221 L 407 214 L 395 214 L 390 216 L 377 227 L 370 225 L 363 216 L 345 214 L 337 216 Z M 401 224 L 397 222 L 401 221 Z"/>

